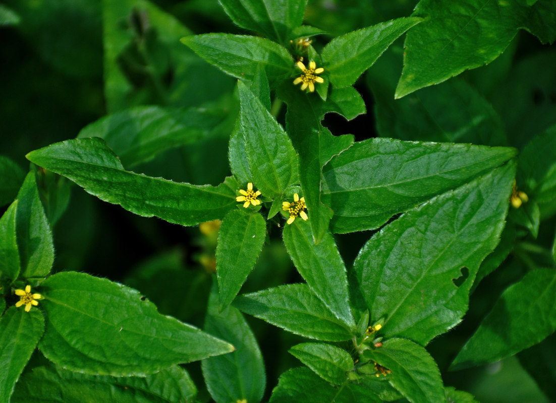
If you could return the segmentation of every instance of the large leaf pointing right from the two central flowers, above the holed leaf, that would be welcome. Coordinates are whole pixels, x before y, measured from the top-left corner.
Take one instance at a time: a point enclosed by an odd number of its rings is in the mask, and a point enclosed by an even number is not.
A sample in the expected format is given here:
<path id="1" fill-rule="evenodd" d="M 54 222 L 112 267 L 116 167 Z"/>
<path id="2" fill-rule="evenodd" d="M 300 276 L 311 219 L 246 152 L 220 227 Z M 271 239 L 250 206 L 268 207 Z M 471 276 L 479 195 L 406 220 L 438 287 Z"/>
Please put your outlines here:
<path id="1" fill-rule="evenodd" d="M 369 139 L 355 143 L 322 169 L 322 200 L 332 232 L 374 229 L 391 216 L 489 172 L 513 148 Z"/>

